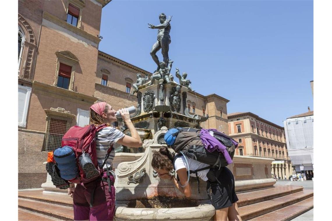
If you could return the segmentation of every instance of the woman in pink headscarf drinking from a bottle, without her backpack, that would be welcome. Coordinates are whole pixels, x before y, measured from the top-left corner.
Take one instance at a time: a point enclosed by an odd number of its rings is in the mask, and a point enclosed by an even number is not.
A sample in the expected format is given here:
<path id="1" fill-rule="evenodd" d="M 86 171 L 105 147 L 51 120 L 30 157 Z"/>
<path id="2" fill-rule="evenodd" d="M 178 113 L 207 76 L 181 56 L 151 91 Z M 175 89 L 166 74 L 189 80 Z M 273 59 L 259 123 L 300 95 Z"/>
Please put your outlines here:
<path id="1" fill-rule="evenodd" d="M 90 124 L 96 127 L 106 124 L 96 133 L 96 156 L 99 168 L 103 171 L 101 177 L 89 183 L 73 183 L 68 188 L 68 195 L 74 201 L 74 220 L 113 220 L 115 212 L 115 175 L 112 171 L 112 162 L 115 156 L 114 143 L 128 147 L 141 147 L 142 141 L 130 120 L 127 109 L 119 110 L 131 137 L 112 127 L 117 121 L 116 111 L 110 104 L 99 102 L 90 107 Z M 111 150 L 109 150 L 112 148 Z M 105 157 L 105 156 L 108 157 Z M 106 159 L 106 162 L 104 163 Z M 104 165 L 104 167 L 102 167 Z M 111 172 L 111 175 L 110 175 Z M 111 182 L 109 182 L 111 180 Z"/>

